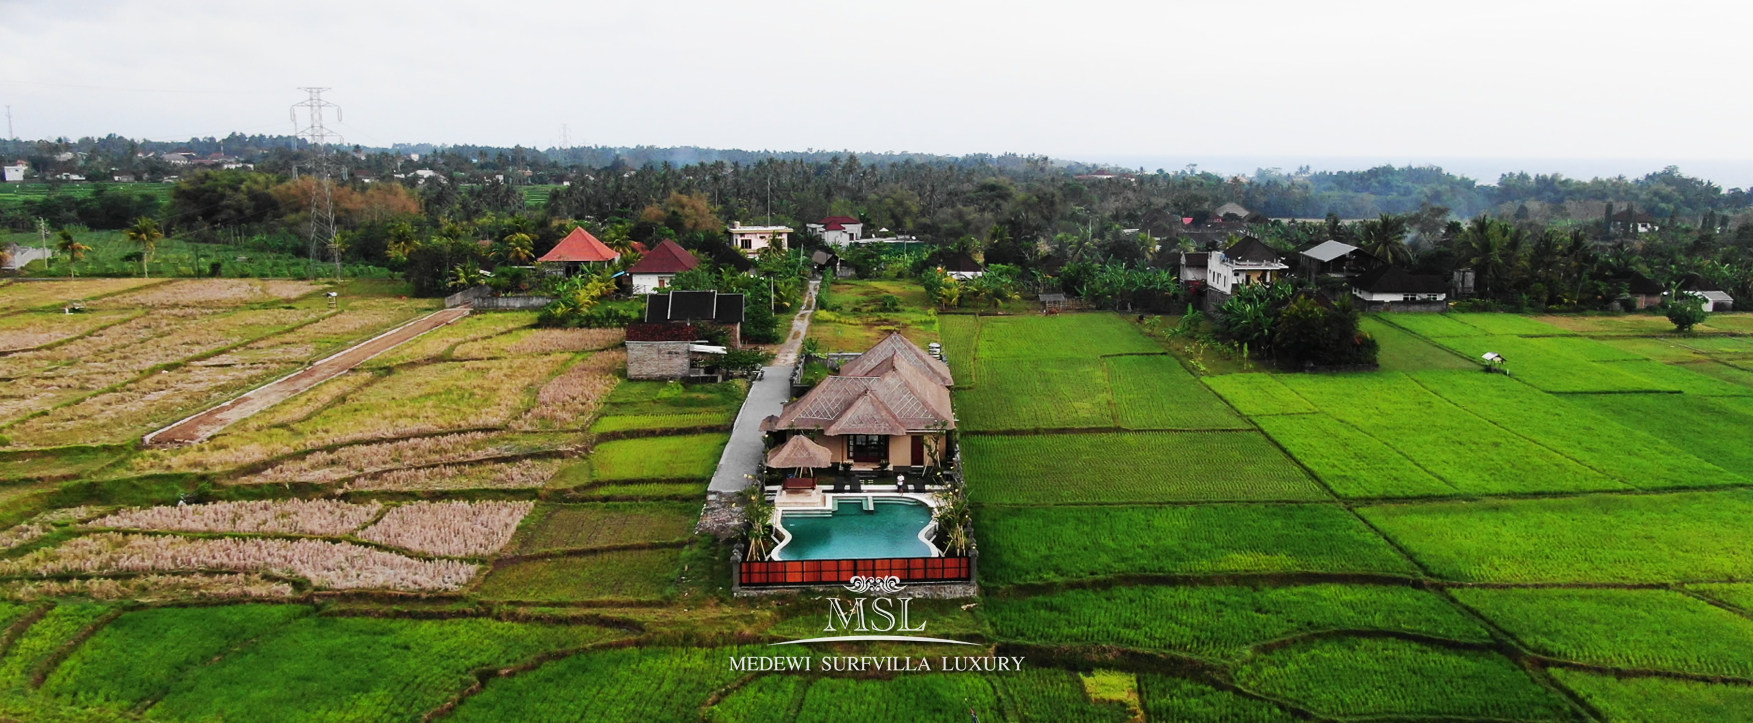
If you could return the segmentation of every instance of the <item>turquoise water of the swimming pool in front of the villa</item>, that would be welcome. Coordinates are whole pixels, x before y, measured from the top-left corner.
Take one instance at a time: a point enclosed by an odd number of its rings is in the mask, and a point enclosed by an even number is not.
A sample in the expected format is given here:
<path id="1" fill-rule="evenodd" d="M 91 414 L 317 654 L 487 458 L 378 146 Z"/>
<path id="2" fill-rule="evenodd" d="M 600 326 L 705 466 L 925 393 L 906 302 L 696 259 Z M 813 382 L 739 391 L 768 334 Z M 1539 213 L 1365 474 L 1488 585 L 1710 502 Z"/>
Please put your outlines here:
<path id="1" fill-rule="evenodd" d="M 791 544 L 780 560 L 926 558 L 931 546 L 919 530 L 931 523 L 931 507 L 901 497 L 875 498 L 866 511 L 862 498 L 836 500 L 833 512 L 792 512 L 780 518 Z"/>

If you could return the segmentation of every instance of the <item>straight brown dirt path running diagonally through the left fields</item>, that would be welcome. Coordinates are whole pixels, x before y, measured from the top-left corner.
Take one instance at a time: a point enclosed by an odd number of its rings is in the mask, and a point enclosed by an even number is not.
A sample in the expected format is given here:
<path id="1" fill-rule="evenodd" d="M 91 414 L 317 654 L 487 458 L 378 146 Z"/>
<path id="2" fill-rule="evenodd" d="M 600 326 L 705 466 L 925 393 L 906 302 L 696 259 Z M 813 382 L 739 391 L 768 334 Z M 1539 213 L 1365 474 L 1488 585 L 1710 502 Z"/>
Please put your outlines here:
<path id="1" fill-rule="evenodd" d="M 456 319 L 468 316 L 470 309 L 444 309 L 429 316 L 422 316 L 407 325 L 396 326 L 389 332 L 379 333 L 365 342 L 354 344 L 342 349 L 328 358 L 323 358 L 310 367 L 305 367 L 291 376 L 275 379 L 268 384 L 258 386 L 245 391 L 242 397 L 233 398 L 226 404 L 195 414 L 175 425 L 165 426 L 163 430 L 153 432 L 142 439 L 147 446 L 165 446 L 165 444 L 195 444 L 219 433 L 219 430 L 231 426 L 238 419 L 245 419 L 263 409 L 280 404 L 293 395 L 317 386 L 324 381 L 335 379 L 345 374 L 352 367 L 358 367 L 370 360 L 372 356 L 382 354 L 403 342 L 412 340 L 426 332 L 438 326 L 449 325 Z"/>

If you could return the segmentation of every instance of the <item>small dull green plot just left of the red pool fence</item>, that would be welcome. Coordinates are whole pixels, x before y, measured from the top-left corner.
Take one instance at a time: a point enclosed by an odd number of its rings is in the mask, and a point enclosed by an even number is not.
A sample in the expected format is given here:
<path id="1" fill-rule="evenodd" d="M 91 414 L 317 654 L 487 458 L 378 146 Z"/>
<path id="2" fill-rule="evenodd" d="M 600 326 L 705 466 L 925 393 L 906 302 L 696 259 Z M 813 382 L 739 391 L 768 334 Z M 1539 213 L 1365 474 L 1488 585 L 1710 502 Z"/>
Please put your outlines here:
<path id="1" fill-rule="evenodd" d="M 487 600 L 652 600 L 680 572 L 680 549 L 621 549 L 494 565 L 477 591 Z"/>

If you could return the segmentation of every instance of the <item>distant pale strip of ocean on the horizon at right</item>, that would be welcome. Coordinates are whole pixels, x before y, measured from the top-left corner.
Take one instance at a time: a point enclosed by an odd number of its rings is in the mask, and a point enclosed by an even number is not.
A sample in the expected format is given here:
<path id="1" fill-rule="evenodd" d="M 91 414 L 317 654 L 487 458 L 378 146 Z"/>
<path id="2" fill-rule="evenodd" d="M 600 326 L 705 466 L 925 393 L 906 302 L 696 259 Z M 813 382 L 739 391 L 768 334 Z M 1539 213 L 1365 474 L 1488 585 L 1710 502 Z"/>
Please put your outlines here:
<path id="1" fill-rule="evenodd" d="M 1057 156 L 1055 156 L 1057 158 Z M 1502 174 L 1525 170 L 1529 174 L 1564 174 L 1572 179 L 1625 175 L 1637 179 L 1658 172 L 1665 167 L 1679 167 L 1681 174 L 1700 177 L 1728 188 L 1753 188 L 1753 160 L 1721 158 L 1441 158 L 1441 156 L 1141 156 L 1120 153 L 1083 153 L 1066 158 L 1083 163 L 1104 163 L 1115 168 L 1145 168 L 1146 172 L 1182 170 L 1189 163 L 1199 170 L 1222 175 L 1253 175 L 1259 168 L 1278 168 L 1287 174 L 1297 167 L 1309 170 L 1364 170 L 1380 165 L 1436 165 L 1457 175 L 1466 175 L 1483 184 L 1495 184 Z"/>

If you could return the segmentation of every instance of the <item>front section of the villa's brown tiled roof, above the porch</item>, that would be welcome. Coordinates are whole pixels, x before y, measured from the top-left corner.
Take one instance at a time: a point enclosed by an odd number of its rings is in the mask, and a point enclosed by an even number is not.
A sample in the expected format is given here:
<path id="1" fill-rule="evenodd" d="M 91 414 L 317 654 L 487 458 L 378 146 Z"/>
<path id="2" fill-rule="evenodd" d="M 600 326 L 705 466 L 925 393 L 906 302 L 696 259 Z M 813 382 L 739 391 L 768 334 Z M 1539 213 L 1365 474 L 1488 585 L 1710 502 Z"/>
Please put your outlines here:
<path id="1" fill-rule="evenodd" d="M 950 414 L 948 388 L 936 384 L 910 363 L 898 363 L 882 376 L 822 379 L 803 398 L 780 409 L 771 426 L 824 430 L 831 435 L 894 435 L 906 430 L 955 428 L 955 416 Z"/>

